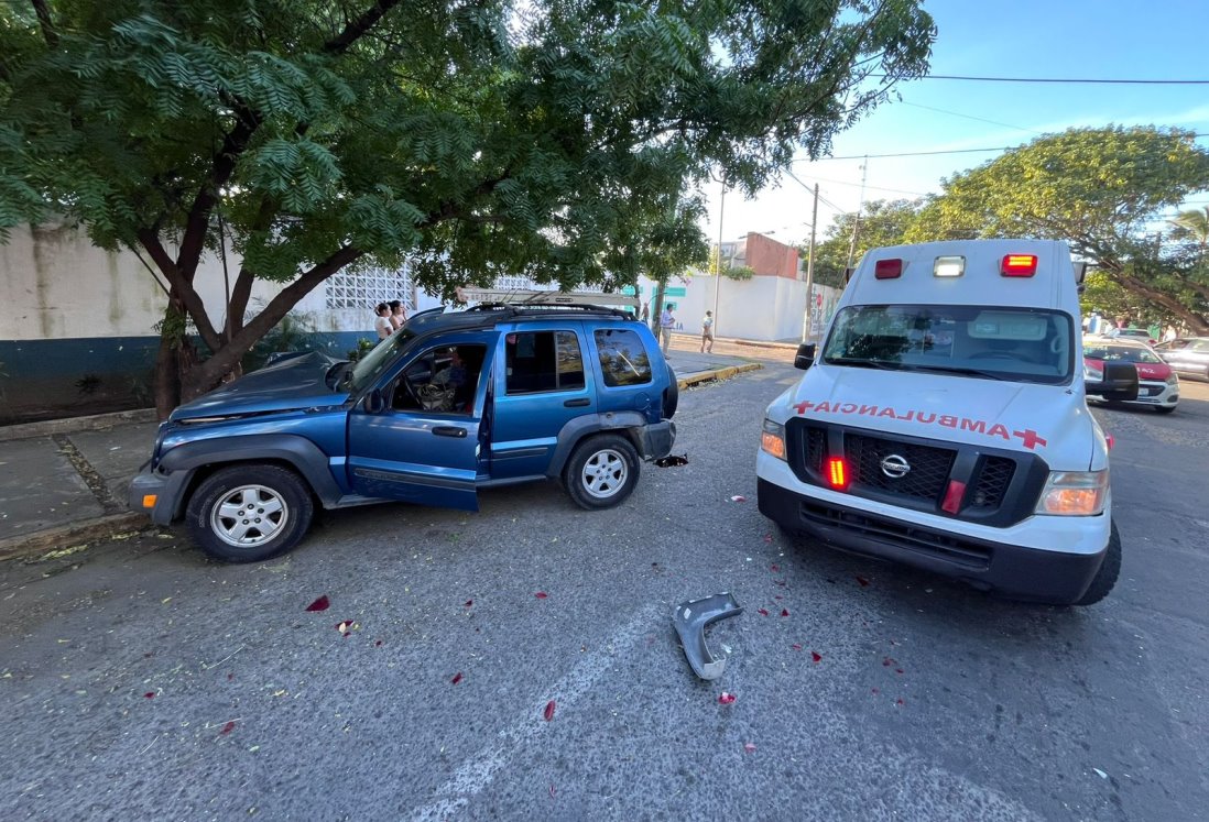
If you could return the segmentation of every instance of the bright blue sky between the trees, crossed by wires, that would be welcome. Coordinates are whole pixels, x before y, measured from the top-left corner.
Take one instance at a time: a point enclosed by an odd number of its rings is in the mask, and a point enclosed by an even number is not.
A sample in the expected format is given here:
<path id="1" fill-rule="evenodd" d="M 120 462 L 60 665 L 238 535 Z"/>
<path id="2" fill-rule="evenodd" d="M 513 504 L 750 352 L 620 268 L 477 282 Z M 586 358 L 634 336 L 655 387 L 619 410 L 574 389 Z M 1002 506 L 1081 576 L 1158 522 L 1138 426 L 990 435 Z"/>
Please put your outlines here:
<path id="1" fill-rule="evenodd" d="M 925 0 L 938 34 L 930 74 L 997 77 L 1209 80 L 1209 0 Z M 1209 85 L 1001 83 L 918 80 L 901 83 L 902 102 L 878 108 L 835 137 L 835 157 L 1016 146 L 1071 127 L 1178 126 L 1207 137 Z M 915 157 L 869 157 L 864 199 L 913 198 L 938 192 L 941 179 L 979 166 L 997 151 Z M 861 202 L 863 160 L 798 162 L 793 174 L 818 183 L 818 237 L 837 208 Z M 706 189 L 710 219 L 702 230 L 718 241 L 719 187 Z M 745 202 L 725 198 L 723 239 L 748 231 L 781 242 L 804 242 L 810 192 L 789 178 Z M 1209 192 L 1187 207 L 1209 204 Z"/>

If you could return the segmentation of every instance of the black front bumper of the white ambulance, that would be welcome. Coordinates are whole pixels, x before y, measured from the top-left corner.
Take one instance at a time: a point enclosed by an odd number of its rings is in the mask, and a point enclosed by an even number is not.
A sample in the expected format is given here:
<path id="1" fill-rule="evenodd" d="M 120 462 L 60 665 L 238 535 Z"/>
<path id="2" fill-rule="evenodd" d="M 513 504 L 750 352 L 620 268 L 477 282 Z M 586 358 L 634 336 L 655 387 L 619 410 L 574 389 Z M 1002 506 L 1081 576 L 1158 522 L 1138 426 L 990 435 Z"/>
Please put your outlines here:
<path id="1" fill-rule="evenodd" d="M 1045 551 L 956 537 L 912 522 L 799 496 L 758 481 L 760 514 L 833 548 L 892 560 L 994 590 L 1013 600 L 1075 603 L 1104 561 L 1100 554 Z"/>

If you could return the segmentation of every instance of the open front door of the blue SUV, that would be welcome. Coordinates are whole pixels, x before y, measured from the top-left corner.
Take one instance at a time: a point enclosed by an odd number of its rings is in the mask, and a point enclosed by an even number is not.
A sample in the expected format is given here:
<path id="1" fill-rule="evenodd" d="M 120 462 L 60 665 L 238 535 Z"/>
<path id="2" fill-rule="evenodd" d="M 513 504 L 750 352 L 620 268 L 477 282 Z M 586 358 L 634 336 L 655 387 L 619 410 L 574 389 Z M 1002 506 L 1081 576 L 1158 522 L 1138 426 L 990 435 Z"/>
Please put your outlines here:
<path id="1" fill-rule="evenodd" d="M 433 404 L 422 389 L 451 365 L 455 347 L 467 361 L 464 395 L 458 390 L 456 400 Z M 478 341 L 442 341 L 409 357 L 401 370 L 364 396 L 348 415 L 352 488 L 365 497 L 479 510 L 475 480 L 484 456 L 480 429 L 492 353 Z"/>

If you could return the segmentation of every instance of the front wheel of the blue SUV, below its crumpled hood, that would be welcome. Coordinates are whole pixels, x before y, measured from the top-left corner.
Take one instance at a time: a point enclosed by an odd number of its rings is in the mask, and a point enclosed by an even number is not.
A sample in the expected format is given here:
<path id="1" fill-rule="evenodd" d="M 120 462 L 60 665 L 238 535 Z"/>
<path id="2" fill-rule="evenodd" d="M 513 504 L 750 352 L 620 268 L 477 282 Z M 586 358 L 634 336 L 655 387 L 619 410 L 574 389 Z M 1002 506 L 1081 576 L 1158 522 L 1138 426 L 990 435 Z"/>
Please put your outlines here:
<path id="1" fill-rule="evenodd" d="M 258 562 L 290 550 L 314 516 L 311 490 L 277 465 L 232 465 L 202 482 L 189 500 L 193 542 L 225 562 Z"/>

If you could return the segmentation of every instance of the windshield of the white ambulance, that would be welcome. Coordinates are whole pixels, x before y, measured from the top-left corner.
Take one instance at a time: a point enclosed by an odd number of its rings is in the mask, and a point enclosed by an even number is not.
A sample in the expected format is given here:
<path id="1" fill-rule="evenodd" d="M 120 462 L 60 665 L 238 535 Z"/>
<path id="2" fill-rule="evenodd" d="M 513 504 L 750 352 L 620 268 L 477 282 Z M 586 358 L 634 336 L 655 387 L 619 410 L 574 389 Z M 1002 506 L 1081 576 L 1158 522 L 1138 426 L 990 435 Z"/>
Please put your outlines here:
<path id="1" fill-rule="evenodd" d="M 1058 384 L 1074 364 L 1070 317 L 999 306 L 849 306 L 823 348 L 832 365 Z"/>

